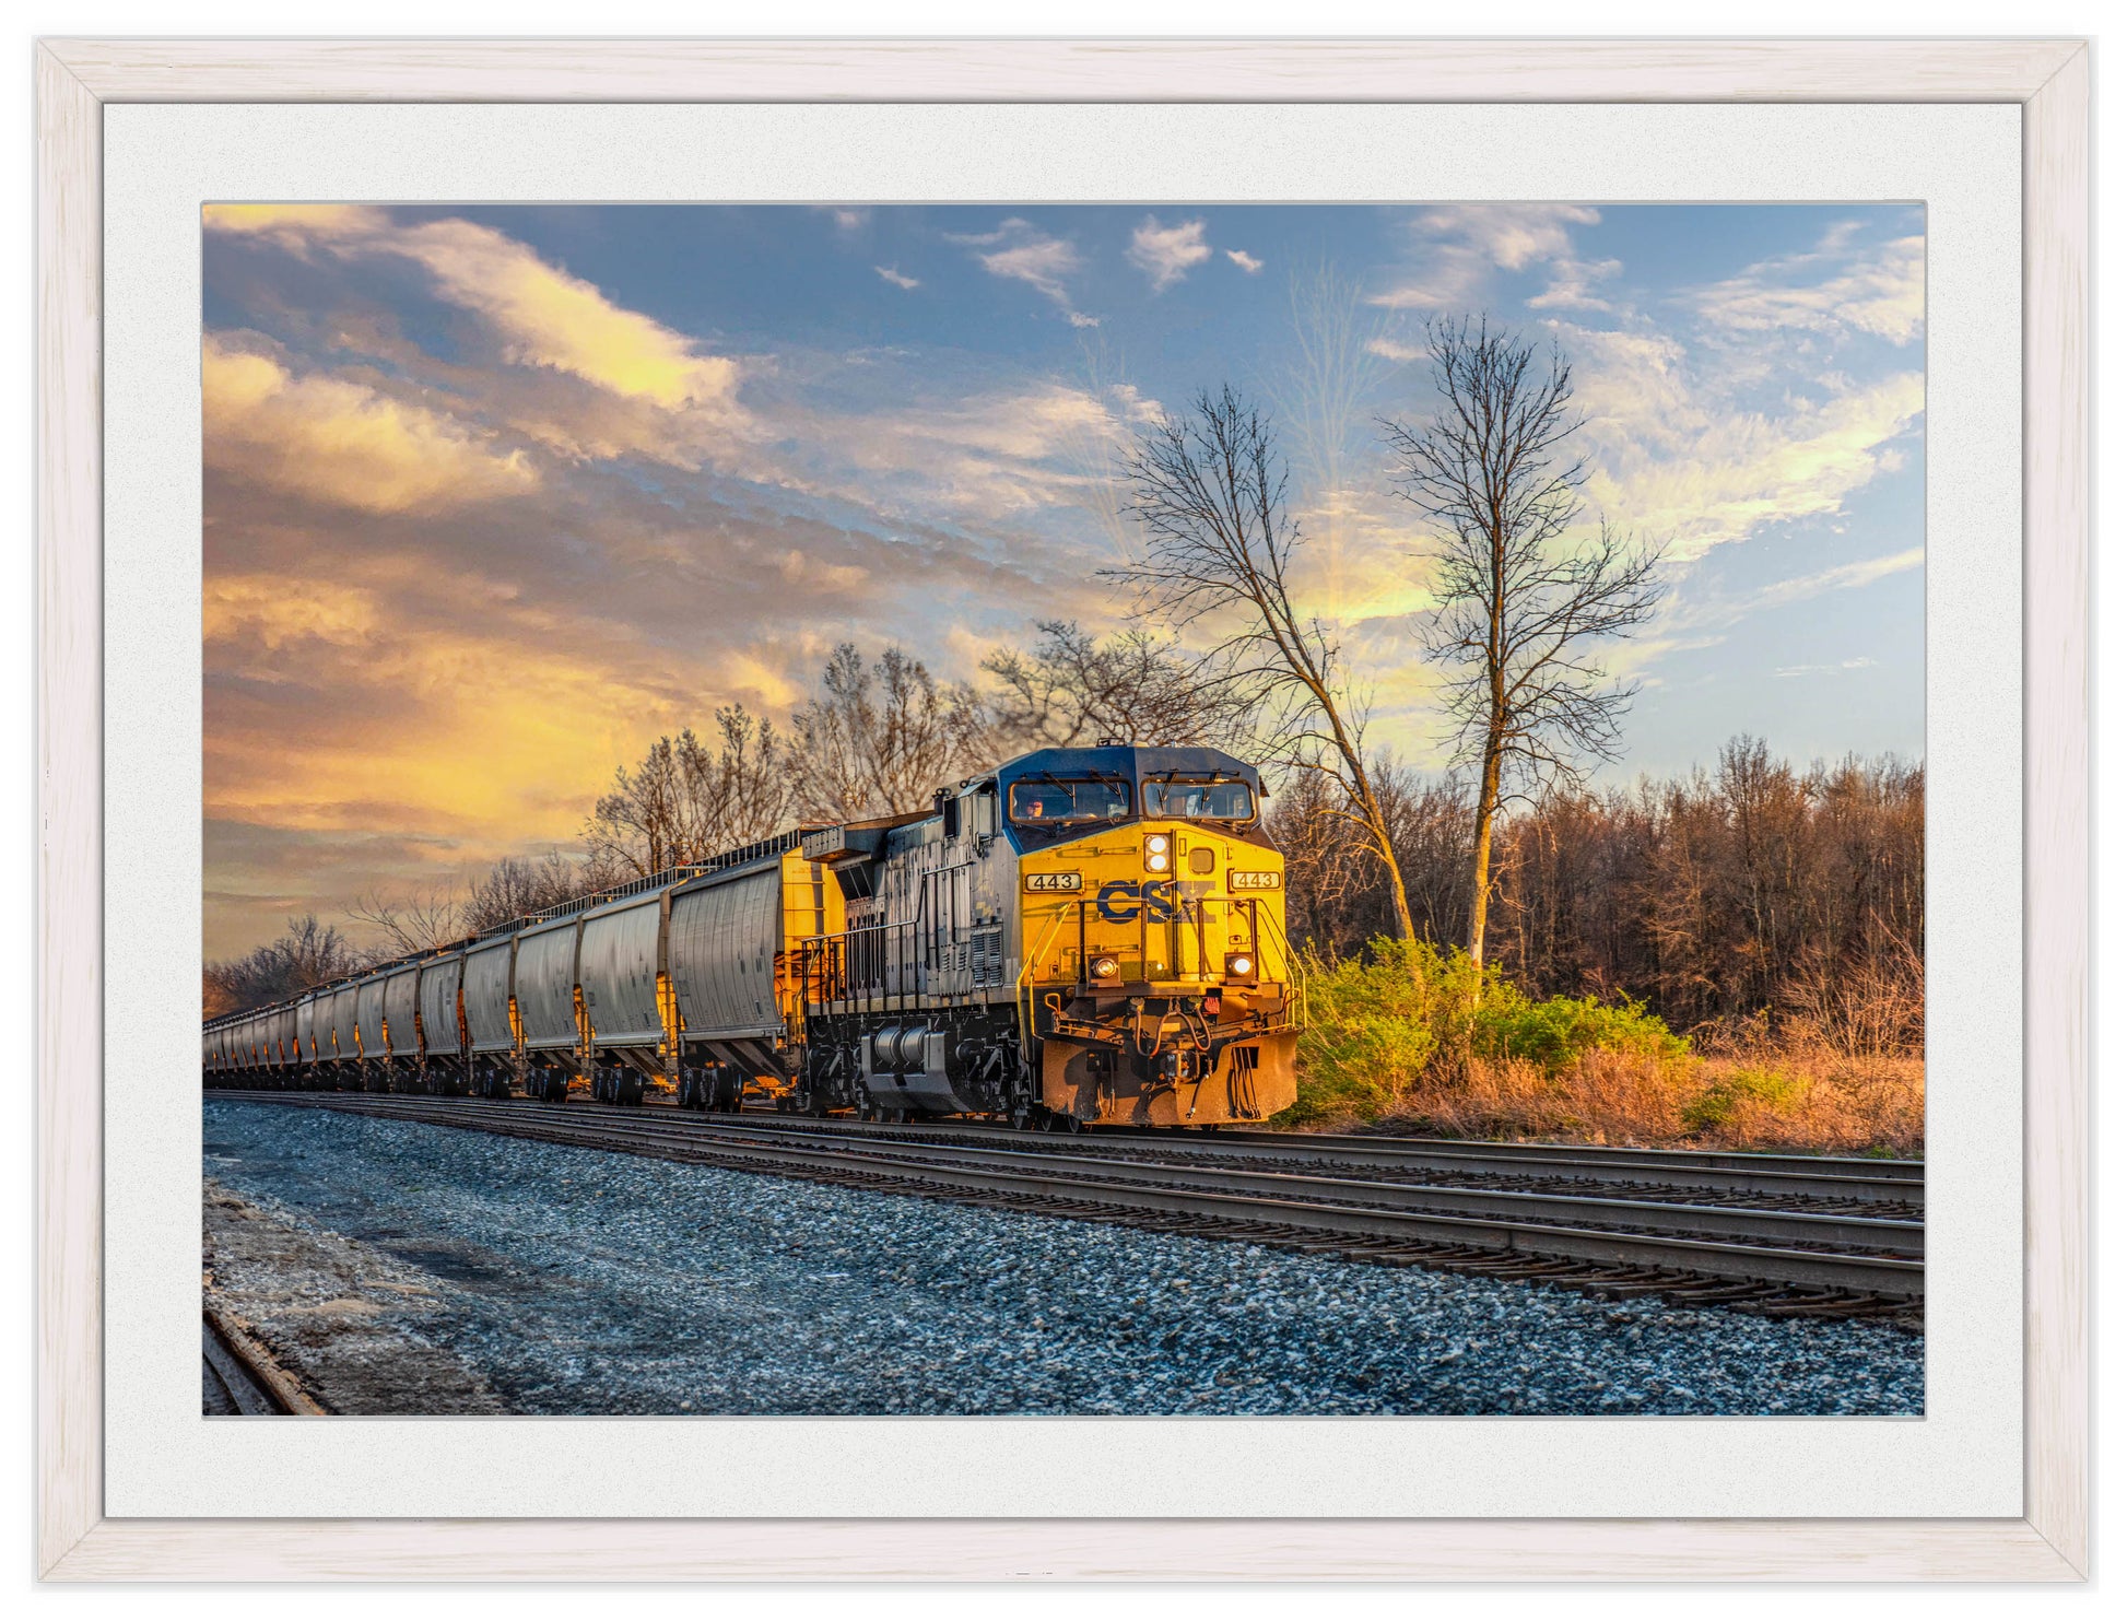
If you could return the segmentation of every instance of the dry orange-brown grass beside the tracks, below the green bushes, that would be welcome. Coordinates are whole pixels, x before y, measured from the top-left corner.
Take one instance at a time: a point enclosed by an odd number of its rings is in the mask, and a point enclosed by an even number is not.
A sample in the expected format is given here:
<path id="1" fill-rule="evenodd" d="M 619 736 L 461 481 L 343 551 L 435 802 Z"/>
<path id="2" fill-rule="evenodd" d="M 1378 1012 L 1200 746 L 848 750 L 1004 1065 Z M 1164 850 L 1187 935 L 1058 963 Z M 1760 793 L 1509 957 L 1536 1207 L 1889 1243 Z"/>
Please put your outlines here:
<path id="1" fill-rule="evenodd" d="M 1697 1042 L 1695 1042 L 1697 1045 Z M 1431 1066 L 1374 1130 L 1919 1157 L 1923 1062 L 1853 1055 L 1802 1036 L 1706 1042 L 1685 1059 L 1591 1051 L 1557 1076 L 1525 1062 Z M 1351 1130 L 1357 1121 L 1323 1121 Z"/>

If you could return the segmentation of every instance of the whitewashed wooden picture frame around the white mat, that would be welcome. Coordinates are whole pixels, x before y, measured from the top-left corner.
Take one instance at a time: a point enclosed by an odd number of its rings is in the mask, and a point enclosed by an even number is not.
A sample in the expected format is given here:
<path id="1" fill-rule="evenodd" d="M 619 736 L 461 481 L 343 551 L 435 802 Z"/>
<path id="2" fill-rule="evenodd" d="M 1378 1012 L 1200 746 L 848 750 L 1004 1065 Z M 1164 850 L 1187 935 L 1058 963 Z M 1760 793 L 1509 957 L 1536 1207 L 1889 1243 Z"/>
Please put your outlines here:
<path id="1" fill-rule="evenodd" d="M 2025 1517 L 145 1521 L 102 1513 L 104 102 L 2021 102 Z M 45 1581 L 2074 1581 L 2089 1564 L 2089 47 L 2080 40 L 43 40 Z"/>

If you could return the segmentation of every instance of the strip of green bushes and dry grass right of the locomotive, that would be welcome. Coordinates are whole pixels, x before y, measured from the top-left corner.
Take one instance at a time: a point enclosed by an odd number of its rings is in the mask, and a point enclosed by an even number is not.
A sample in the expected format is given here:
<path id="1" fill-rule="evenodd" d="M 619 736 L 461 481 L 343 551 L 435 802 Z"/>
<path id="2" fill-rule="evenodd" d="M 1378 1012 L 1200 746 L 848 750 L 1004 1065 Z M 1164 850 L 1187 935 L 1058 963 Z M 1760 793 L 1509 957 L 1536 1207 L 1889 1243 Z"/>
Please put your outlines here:
<path id="1" fill-rule="evenodd" d="M 1278 1125 L 1919 1153 L 1921 1059 L 1768 1019 L 1678 1036 L 1629 998 L 1531 998 L 1461 951 L 1312 957 L 1300 1102 Z"/>

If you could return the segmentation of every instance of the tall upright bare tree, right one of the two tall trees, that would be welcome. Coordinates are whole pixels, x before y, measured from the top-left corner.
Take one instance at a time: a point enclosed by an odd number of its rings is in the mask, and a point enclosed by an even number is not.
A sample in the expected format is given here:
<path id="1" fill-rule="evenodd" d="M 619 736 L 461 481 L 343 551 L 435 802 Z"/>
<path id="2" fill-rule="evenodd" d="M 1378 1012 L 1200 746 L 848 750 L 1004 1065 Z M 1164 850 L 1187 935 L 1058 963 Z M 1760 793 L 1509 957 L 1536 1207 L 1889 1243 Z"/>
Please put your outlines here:
<path id="1" fill-rule="evenodd" d="M 1438 411 L 1383 432 L 1397 494 L 1436 536 L 1425 651 L 1448 670 L 1457 753 L 1476 779 L 1470 957 L 1483 962 L 1500 804 L 1580 783 L 1589 762 L 1617 755 L 1636 685 L 1610 681 L 1593 649 L 1655 613 L 1661 549 L 1608 521 L 1568 540 L 1587 462 L 1568 447 L 1582 417 L 1555 347 L 1540 360 L 1485 321 L 1434 321 L 1427 351 Z"/>

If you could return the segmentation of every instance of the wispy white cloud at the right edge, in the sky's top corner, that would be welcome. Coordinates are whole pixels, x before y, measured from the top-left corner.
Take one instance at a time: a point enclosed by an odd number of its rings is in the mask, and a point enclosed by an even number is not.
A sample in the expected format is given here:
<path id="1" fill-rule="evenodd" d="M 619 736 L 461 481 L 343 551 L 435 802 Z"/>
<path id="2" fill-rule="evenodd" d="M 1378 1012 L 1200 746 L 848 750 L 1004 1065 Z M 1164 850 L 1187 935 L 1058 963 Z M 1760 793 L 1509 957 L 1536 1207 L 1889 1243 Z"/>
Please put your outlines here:
<path id="1" fill-rule="evenodd" d="M 1738 277 L 1685 294 L 1706 321 L 1731 332 L 1865 332 L 1895 345 L 1927 321 L 1927 245 L 1899 236 L 1853 249 L 1853 228 L 1833 228 L 1816 249 L 1761 260 Z M 1827 274 L 1829 272 L 1829 274 Z"/>

